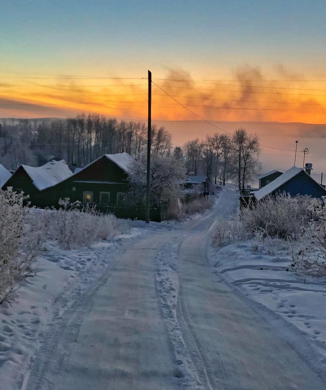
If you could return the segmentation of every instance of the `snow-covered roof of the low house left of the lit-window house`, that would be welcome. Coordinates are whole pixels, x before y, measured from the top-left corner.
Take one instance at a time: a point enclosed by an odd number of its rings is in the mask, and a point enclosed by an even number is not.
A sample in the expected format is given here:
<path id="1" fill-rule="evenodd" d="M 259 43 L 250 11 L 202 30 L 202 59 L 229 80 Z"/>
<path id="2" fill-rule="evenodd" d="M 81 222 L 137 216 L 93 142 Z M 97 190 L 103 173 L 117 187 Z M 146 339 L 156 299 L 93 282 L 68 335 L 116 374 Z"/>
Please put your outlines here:
<path id="1" fill-rule="evenodd" d="M 41 167 L 29 165 L 22 165 L 22 167 L 40 191 L 60 183 L 73 174 L 64 160 L 49 161 Z"/>

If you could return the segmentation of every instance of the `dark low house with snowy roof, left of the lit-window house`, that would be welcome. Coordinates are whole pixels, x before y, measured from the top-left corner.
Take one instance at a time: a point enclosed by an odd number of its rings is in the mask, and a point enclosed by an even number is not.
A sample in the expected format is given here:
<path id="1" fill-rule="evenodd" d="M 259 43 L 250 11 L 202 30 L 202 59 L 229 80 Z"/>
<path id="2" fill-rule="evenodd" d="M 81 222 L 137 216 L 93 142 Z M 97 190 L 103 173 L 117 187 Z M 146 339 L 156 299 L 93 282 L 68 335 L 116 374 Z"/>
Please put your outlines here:
<path id="1" fill-rule="evenodd" d="M 50 207 L 52 203 L 45 197 L 45 190 L 72 176 L 66 161 L 49 161 L 41 167 L 21 165 L 3 184 L 2 189 L 12 187 L 29 195 L 32 206 Z"/>

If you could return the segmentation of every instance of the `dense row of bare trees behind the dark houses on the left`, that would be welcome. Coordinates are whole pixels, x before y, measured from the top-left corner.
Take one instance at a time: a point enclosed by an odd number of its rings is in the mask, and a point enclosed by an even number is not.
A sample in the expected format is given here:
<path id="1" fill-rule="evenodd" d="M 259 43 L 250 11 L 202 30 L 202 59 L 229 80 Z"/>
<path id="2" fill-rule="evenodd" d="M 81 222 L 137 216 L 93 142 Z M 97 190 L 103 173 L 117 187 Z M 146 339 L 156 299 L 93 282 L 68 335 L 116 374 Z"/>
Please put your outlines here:
<path id="1" fill-rule="evenodd" d="M 163 156 L 172 147 L 172 137 L 164 127 L 153 126 L 151 138 L 153 156 Z M 39 166 L 49 158 L 84 167 L 102 154 L 122 152 L 143 160 L 146 148 L 144 123 L 96 114 L 52 121 L 12 119 L 0 123 L 0 161 L 10 170 L 21 164 Z"/>

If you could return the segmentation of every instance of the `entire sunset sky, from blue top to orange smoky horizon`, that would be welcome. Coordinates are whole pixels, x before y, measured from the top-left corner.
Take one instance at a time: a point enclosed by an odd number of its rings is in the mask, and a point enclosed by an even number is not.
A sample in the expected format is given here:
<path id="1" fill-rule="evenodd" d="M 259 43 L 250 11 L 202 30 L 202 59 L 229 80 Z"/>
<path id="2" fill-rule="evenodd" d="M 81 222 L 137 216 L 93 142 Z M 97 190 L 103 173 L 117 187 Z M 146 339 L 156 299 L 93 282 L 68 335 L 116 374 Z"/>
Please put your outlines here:
<path id="1" fill-rule="evenodd" d="M 144 120 L 150 69 L 153 120 L 168 130 L 173 121 L 176 144 L 194 134 L 185 122 L 178 133 L 176 121 L 196 115 L 222 128 L 325 124 L 325 20 L 322 0 L 3 0 L 0 117 L 97 112 Z M 194 123 L 196 136 L 218 131 Z M 262 143 L 280 149 L 292 150 L 294 138 L 311 131 L 314 140 L 326 135 L 325 126 L 279 126 L 280 139 L 263 128 Z"/>

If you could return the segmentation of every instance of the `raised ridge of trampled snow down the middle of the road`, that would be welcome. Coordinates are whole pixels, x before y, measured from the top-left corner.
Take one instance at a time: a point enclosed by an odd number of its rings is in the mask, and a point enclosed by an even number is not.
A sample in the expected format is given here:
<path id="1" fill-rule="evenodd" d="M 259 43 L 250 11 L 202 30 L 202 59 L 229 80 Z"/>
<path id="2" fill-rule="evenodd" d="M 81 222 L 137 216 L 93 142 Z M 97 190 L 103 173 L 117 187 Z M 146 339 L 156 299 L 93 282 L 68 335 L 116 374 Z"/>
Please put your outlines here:
<path id="1" fill-rule="evenodd" d="M 180 245 L 180 243 L 179 243 Z M 171 349 L 182 385 L 194 389 L 218 390 L 225 382 L 225 368 L 217 352 L 214 372 L 192 327 L 178 275 L 178 245 L 166 244 L 157 257 L 157 293 L 167 326 Z"/>

